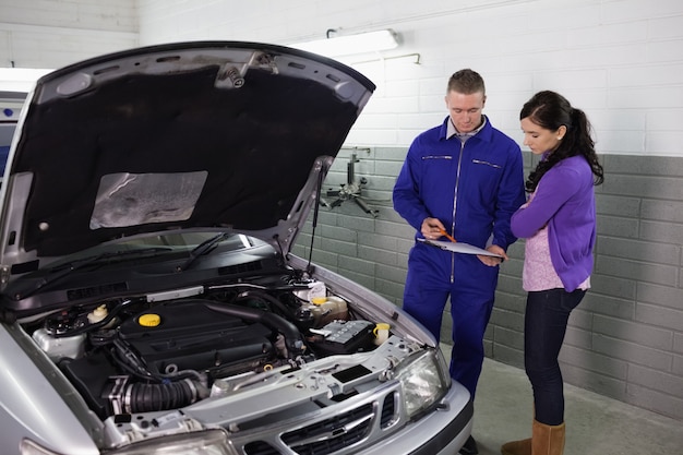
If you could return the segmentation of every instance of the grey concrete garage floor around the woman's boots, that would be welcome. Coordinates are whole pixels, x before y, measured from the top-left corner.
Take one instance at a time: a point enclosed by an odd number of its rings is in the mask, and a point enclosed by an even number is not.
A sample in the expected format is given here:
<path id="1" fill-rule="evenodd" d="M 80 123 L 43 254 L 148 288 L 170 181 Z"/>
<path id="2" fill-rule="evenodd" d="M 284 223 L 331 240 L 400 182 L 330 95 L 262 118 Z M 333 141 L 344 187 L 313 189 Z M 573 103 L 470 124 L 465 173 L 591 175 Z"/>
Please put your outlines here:
<path id="1" fill-rule="evenodd" d="M 442 348 L 450 357 L 450 347 Z M 564 396 L 565 455 L 683 454 L 683 421 L 568 384 Z M 479 454 L 500 455 L 503 443 L 529 438 L 531 403 L 524 370 L 484 359 L 472 431 Z"/>

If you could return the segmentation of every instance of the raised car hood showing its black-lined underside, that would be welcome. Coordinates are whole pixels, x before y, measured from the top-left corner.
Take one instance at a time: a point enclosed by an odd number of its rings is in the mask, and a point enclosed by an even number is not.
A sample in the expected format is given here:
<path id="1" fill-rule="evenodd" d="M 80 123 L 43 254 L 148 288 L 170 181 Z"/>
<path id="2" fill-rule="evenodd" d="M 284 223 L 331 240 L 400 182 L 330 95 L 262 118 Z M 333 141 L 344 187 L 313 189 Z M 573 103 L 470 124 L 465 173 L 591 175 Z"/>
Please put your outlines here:
<path id="1" fill-rule="evenodd" d="M 1 191 L 7 277 L 122 237 L 224 228 L 287 253 L 374 85 L 324 57 L 206 41 L 41 77 Z"/>

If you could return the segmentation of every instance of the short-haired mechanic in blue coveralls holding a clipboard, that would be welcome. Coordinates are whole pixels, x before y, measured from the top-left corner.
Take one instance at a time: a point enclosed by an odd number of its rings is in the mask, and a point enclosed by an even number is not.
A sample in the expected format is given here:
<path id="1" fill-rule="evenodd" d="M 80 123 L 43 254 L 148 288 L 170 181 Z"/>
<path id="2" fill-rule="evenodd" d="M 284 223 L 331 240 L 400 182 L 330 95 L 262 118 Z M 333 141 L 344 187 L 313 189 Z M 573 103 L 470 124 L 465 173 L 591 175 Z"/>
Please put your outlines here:
<path id="1" fill-rule="evenodd" d="M 439 340 L 451 298 L 451 375 L 472 399 L 499 265 L 516 240 L 510 218 L 525 202 L 522 151 L 482 113 L 486 100 L 479 73 L 454 73 L 445 97 L 448 117 L 415 139 L 393 192 L 394 208 L 417 229 L 416 239 L 447 240 L 445 231 L 502 256 L 452 253 L 417 241 L 408 256 L 403 308 Z M 463 453 L 477 453 L 476 444 L 475 452 Z"/>

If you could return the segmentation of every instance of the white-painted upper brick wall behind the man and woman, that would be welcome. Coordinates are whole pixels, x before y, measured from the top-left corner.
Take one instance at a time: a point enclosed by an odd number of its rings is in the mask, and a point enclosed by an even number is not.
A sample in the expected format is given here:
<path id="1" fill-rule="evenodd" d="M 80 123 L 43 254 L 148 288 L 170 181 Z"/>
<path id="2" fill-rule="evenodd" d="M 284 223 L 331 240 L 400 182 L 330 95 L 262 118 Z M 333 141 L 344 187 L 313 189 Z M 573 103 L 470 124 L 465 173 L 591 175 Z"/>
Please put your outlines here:
<path id="1" fill-rule="evenodd" d="M 515 137 L 520 139 L 516 116 L 522 104 L 534 92 L 551 88 L 588 112 L 601 153 L 683 156 L 683 123 L 668 120 L 683 117 L 679 0 L 439 1 L 429 9 L 412 0 L 358 0 L 344 8 L 327 1 L 229 3 L 140 0 L 141 43 L 288 44 L 323 37 L 327 28 L 392 27 L 404 46 L 384 56 L 390 59 L 344 59 L 379 86 L 349 144 L 408 145 L 443 118 L 447 76 L 471 67 L 488 81 L 488 113 Z M 414 52 L 420 64 L 391 59 Z"/>

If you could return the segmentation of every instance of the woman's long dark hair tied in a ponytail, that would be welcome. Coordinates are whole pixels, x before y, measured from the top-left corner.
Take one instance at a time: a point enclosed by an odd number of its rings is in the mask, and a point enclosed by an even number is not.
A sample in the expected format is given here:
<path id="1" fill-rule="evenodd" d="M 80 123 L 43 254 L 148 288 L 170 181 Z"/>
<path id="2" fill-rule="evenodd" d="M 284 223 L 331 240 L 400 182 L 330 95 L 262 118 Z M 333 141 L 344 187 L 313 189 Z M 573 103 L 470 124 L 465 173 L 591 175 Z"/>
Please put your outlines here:
<path id="1" fill-rule="evenodd" d="M 560 160 L 576 155 L 582 155 L 590 165 L 595 176 L 595 184 L 601 184 L 604 181 L 602 166 L 598 161 L 598 155 L 594 147 L 595 142 L 590 136 L 590 122 L 583 110 L 572 107 L 570 101 L 560 94 L 543 91 L 525 103 L 519 112 L 519 120 L 527 118 L 539 127 L 551 131 L 556 131 L 562 125 L 566 127 L 566 133 L 560 141 L 558 148 L 546 156 L 529 173 L 526 181 L 527 192 L 534 192 L 541 177 Z"/>

